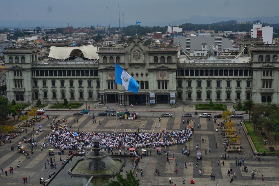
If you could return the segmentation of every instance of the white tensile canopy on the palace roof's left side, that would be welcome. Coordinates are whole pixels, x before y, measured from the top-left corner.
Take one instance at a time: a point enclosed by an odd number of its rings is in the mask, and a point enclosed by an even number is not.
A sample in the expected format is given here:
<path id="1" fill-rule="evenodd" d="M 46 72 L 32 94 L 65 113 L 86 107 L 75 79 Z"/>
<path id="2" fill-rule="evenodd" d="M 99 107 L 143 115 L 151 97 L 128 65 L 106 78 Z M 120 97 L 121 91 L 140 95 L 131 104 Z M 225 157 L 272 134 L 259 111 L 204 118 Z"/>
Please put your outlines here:
<path id="1" fill-rule="evenodd" d="M 97 47 L 93 45 L 81 46 L 81 47 L 50 47 L 49 58 L 57 60 L 68 59 L 70 55 L 78 56 L 83 53 L 83 56 L 87 59 L 98 59 L 99 55 L 96 53 Z"/>

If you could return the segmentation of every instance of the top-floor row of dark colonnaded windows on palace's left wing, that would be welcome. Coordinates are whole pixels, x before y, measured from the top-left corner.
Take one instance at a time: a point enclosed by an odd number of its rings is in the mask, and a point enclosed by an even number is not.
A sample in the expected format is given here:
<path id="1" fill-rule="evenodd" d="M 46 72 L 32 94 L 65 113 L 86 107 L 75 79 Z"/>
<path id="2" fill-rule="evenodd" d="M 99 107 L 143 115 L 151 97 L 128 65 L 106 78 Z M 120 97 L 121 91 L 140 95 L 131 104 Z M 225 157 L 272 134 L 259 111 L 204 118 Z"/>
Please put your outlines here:
<path id="1" fill-rule="evenodd" d="M 98 70 L 33 70 L 33 76 L 99 76 Z"/>

